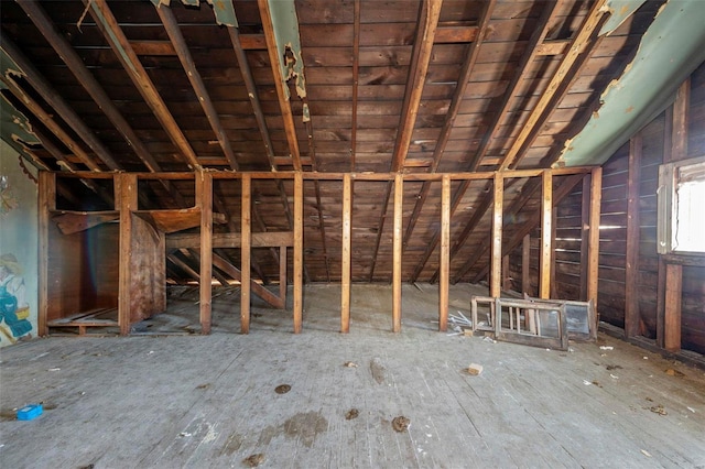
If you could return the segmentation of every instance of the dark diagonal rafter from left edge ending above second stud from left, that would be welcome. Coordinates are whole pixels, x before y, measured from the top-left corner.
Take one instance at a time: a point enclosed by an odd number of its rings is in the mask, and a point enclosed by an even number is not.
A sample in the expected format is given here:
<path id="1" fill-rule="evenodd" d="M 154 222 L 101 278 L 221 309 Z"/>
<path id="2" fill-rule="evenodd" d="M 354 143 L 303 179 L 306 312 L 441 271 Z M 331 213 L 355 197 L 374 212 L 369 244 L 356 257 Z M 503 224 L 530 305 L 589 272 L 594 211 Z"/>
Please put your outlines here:
<path id="1" fill-rule="evenodd" d="M 86 144 L 94 151 L 96 156 L 110 170 L 120 170 L 120 165 L 115 161 L 110 151 L 102 144 L 102 142 L 96 137 L 93 130 L 86 126 L 84 120 L 76 113 L 76 111 L 62 98 L 62 96 L 54 89 L 54 87 L 44 78 L 44 76 L 36 69 L 36 67 L 29 61 L 24 54 L 20 52 L 20 48 L 6 34 L 0 31 L 0 48 L 2 48 L 8 56 L 14 61 L 20 67 L 17 73 L 22 73 L 24 78 L 30 85 L 39 92 L 39 95 L 51 106 L 62 118 L 64 122 L 78 135 Z M 7 74 L 3 81 L 11 80 L 18 88 L 21 88 L 13 78 L 13 75 Z M 17 96 L 17 95 L 15 95 Z M 28 95 L 29 96 L 29 95 Z M 19 97 L 18 97 L 19 98 Z"/>

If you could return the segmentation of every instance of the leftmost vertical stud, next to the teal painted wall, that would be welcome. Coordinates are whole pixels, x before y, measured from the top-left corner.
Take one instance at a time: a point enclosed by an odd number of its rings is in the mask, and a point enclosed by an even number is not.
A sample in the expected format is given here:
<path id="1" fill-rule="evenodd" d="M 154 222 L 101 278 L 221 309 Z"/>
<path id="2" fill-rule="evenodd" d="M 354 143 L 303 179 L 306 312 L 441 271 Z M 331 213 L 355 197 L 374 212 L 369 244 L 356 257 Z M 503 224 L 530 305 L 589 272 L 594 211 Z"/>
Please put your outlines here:
<path id="1" fill-rule="evenodd" d="M 39 175 L 39 308 L 37 334 L 48 334 L 48 223 L 56 209 L 56 175 L 41 171 Z M 116 198 L 117 199 L 117 198 Z"/>

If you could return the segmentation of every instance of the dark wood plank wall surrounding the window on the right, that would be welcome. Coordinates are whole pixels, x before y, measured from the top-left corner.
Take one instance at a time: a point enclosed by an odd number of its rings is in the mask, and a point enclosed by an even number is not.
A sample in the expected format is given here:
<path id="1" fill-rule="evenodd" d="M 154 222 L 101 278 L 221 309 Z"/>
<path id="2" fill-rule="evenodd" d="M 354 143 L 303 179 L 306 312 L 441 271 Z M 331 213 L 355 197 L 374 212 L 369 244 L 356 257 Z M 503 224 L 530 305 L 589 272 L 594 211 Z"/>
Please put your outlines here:
<path id="1" fill-rule="evenodd" d="M 705 155 L 705 64 L 690 79 L 690 95 L 685 122 L 687 142 L 684 156 Z M 675 120 L 674 120 L 674 113 Z M 664 341 L 664 315 L 668 316 L 665 299 L 665 272 L 663 259 L 657 253 L 657 189 L 659 165 L 669 161 L 674 150 L 673 122 L 677 127 L 679 108 L 671 107 L 647 124 L 630 142 L 620 148 L 603 165 L 599 293 L 597 310 L 599 319 L 626 328 L 627 337 L 643 337 L 670 351 L 679 349 L 705 353 L 705 268 L 679 265 L 671 268 L 682 275 L 680 343 L 675 346 Z M 683 119 L 683 117 L 681 117 Z M 674 137 L 676 135 L 676 137 Z M 638 157 L 636 153 L 640 152 Z M 630 166 L 637 162 L 638 167 Z M 636 164 L 636 163 L 634 163 Z M 634 187 L 631 219 L 637 227 L 628 237 L 629 182 Z M 556 209 L 555 216 L 555 275 L 552 296 L 562 299 L 585 299 L 585 274 L 582 269 L 584 199 L 583 188 L 577 185 Z M 634 208 L 632 208 L 633 210 Z M 630 241 L 628 242 L 628 239 Z M 527 293 L 539 294 L 539 260 L 541 248 L 541 227 L 530 233 L 529 286 Z M 633 248 L 632 248 L 633 244 Z M 633 249 L 633 265 L 628 268 L 629 249 Z M 522 291 L 522 246 L 517 247 L 510 257 L 510 285 Z M 672 264 L 671 264 L 672 265 Z M 632 276 L 627 276 L 633 272 Z M 673 284 L 677 284 L 674 282 Z M 677 293 L 676 293 L 677 295 Z M 630 304 L 631 302 L 631 304 Z M 663 312 L 659 312 L 662 307 Z M 630 315 L 626 314 L 629 310 Z M 665 312 L 665 313 L 664 313 Z M 627 319 L 631 317 L 633 319 Z M 676 330 L 677 332 L 677 330 Z M 673 332 L 672 332 L 673 334 Z M 677 336 L 677 334 L 676 334 Z"/>

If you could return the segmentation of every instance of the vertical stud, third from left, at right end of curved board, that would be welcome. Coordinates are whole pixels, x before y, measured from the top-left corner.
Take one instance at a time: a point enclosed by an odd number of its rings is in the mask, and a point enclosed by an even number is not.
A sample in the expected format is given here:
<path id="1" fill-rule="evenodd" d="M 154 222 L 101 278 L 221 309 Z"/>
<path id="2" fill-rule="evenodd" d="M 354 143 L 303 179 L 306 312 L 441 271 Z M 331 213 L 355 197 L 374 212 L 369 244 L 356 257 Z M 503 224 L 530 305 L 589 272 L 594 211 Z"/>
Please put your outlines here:
<path id="1" fill-rule="evenodd" d="M 200 334 L 210 334 L 213 299 L 213 176 L 196 172 L 196 204 L 200 205 Z"/>

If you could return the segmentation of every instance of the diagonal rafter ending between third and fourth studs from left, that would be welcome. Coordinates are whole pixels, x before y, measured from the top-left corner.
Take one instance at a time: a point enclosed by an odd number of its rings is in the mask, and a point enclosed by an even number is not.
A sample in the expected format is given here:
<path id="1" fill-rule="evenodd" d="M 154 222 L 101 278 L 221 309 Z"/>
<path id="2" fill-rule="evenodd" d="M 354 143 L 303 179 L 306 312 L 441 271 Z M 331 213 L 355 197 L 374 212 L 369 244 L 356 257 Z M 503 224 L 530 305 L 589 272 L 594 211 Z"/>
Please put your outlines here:
<path id="1" fill-rule="evenodd" d="M 223 123 L 220 122 L 220 118 L 218 117 L 218 111 L 210 99 L 210 95 L 206 89 L 206 85 L 200 77 L 200 73 L 196 68 L 196 64 L 194 63 L 194 58 L 191 55 L 191 51 L 188 50 L 188 45 L 186 44 L 186 40 L 184 40 L 184 35 L 181 32 L 178 23 L 176 22 L 176 18 L 174 18 L 174 13 L 172 9 L 167 6 L 162 6 L 161 3 L 155 7 L 156 13 L 159 18 L 162 20 L 162 24 L 166 30 L 166 34 L 169 35 L 174 48 L 176 50 L 176 55 L 178 56 L 178 61 L 184 67 L 184 72 L 186 72 L 186 76 L 188 77 L 188 81 L 198 98 L 198 102 L 203 108 L 206 118 L 208 118 L 208 122 L 210 123 L 210 128 L 216 134 L 216 139 L 218 140 L 218 144 L 225 154 L 226 160 L 230 167 L 237 171 L 238 162 L 235 159 L 235 152 L 232 151 L 232 146 L 230 145 L 230 139 L 228 138 Z"/>

